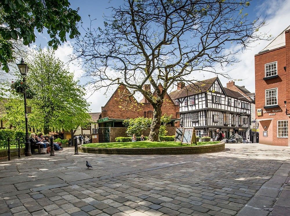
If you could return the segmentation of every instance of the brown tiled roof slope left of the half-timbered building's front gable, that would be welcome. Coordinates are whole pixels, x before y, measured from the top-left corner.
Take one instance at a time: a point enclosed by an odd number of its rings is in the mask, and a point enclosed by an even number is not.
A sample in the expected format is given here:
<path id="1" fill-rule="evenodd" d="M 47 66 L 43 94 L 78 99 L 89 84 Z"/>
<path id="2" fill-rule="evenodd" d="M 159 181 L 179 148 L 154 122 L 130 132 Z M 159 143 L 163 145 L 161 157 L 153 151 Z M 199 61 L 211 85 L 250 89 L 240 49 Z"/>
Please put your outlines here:
<path id="1" fill-rule="evenodd" d="M 172 99 L 177 99 L 180 97 L 187 97 L 191 95 L 197 95 L 202 92 L 208 91 L 214 82 L 218 79 L 218 77 L 214 77 L 211 79 L 206 79 L 203 81 L 195 82 L 193 84 L 187 85 L 180 90 L 175 90 L 169 93 L 169 96 Z"/>

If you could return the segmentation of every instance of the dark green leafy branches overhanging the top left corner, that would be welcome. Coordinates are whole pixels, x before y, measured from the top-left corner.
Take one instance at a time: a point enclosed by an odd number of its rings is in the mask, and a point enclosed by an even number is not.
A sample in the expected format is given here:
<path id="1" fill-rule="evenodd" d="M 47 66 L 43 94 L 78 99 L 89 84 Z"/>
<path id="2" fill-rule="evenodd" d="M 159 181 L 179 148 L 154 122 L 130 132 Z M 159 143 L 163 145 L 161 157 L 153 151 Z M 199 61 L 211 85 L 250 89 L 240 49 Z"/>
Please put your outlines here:
<path id="1" fill-rule="evenodd" d="M 22 39 L 24 45 L 35 42 L 35 30 L 47 29 L 51 40 L 48 45 L 56 49 L 60 42 L 79 35 L 77 23 L 79 9 L 70 8 L 68 0 L 5 0 L 0 1 L 0 64 L 8 72 L 13 59 L 14 41 Z"/>

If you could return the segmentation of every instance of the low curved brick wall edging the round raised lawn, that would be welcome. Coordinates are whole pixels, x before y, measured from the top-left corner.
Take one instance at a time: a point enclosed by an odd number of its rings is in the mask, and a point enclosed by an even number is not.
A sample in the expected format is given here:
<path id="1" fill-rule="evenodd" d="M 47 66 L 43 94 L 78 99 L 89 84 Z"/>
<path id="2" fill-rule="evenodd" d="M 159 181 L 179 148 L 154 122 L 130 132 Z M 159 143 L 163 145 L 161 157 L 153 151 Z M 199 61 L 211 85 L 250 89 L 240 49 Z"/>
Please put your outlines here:
<path id="1" fill-rule="evenodd" d="M 204 154 L 224 151 L 224 142 L 206 146 L 185 146 L 166 148 L 91 148 L 78 146 L 79 152 L 116 155 L 178 155 Z"/>

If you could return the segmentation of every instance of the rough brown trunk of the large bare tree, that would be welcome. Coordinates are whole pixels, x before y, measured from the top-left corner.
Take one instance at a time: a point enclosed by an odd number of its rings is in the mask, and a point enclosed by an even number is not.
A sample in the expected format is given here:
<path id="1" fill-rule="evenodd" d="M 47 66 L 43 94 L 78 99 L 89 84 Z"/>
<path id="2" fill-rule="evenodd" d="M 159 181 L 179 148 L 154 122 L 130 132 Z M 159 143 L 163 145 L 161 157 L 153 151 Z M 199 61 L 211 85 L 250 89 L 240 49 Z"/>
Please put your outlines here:
<path id="1" fill-rule="evenodd" d="M 159 129 L 161 125 L 161 111 L 162 103 L 153 106 L 153 119 L 150 126 L 150 133 L 148 136 L 149 141 L 158 141 L 159 140 Z"/>

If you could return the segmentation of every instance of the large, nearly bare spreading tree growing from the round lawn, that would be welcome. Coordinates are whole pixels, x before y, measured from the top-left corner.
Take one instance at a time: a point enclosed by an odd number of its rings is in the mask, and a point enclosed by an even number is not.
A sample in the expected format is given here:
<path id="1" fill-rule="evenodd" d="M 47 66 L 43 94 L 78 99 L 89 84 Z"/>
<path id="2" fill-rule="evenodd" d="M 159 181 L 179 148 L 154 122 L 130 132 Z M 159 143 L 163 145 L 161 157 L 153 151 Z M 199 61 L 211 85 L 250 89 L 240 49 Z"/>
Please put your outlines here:
<path id="1" fill-rule="evenodd" d="M 104 28 L 91 21 L 77 41 L 77 57 L 95 89 L 122 84 L 144 95 L 154 108 L 148 139 L 156 141 L 168 88 L 198 81 L 196 71 L 217 73 L 263 37 L 264 20 L 250 21 L 243 12 L 248 6 L 245 0 L 126 0 L 111 8 Z"/>

